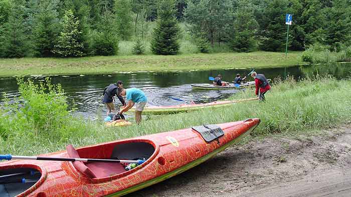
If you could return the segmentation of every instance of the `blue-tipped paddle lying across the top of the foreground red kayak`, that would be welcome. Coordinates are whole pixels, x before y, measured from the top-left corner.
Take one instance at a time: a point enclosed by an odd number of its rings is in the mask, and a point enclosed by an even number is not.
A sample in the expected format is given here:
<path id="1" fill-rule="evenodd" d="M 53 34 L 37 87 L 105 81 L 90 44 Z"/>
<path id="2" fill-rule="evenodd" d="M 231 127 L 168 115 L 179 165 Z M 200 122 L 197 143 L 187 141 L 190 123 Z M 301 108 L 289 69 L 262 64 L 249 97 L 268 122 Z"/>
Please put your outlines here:
<path id="1" fill-rule="evenodd" d="M 36 156 L 16 156 L 11 154 L 0 154 L 0 160 L 27 159 L 46 161 L 84 161 L 84 162 L 106 162 L 106 163 L 137 163 L 142 164 L 145 160 L 117 160 L 117 159 L 85 159 L 85 158 L 60 158 L 60 157 L 36 157 Z"/>

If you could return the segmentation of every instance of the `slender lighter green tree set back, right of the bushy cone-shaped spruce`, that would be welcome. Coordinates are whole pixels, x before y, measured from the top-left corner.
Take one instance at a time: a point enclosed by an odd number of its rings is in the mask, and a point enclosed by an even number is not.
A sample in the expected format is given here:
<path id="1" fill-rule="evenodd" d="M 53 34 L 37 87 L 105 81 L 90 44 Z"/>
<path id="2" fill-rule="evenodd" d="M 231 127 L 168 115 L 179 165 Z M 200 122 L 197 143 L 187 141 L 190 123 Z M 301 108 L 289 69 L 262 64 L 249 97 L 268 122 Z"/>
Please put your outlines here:
<path id="1" fill-rule="evenodd" d="M 115 0 L 114 12 L 118 36 L 121 40 L 129 40 L 132 33 L 132 17 L 130 0 Z"/>

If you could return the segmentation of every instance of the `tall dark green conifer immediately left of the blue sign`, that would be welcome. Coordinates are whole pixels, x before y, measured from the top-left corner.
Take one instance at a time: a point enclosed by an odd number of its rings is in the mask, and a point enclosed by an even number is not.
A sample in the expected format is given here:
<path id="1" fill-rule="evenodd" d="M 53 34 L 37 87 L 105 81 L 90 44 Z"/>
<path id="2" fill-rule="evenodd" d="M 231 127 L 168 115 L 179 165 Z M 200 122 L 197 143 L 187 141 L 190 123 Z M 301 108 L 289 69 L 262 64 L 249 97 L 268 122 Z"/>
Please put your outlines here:
<path id="1" fill-rule="evenodd" d="M 265 12 L 265 26 L 261 27 L 261 49 L 264 51 L 283 51 L 286 40 L 285 14 L 286 0 L 271 1 Z"/>

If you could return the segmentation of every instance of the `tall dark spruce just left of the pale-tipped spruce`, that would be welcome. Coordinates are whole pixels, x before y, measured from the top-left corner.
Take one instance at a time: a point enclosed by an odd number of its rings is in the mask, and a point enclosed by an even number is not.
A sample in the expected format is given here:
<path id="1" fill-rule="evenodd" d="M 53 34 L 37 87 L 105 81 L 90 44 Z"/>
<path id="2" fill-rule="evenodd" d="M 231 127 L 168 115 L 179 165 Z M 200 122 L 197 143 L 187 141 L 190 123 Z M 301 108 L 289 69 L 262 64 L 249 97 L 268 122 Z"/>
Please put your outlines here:
<path id="1" fill-rule="evenodd" d="M 36 16 L 34 29 L 35 54 L 39 57 L 52 57 L 59 34 L 59 20 L 56 0 L 42 1 Z"/>

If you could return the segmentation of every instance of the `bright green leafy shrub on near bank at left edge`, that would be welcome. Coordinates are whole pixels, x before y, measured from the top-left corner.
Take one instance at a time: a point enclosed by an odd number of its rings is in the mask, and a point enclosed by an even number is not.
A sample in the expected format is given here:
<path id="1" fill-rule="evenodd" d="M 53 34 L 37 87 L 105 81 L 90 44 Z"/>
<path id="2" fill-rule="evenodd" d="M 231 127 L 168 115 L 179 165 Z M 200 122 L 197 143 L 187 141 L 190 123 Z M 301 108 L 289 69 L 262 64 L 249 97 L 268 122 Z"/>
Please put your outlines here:
<path id="1" fill-rule="evenodd" d="M 51 84 L 49 78 L 39 84 L 18 78 L 18 85 L 20 96 L 17 102 L 5 104 L 0 111 L 3 139 L 8 136 L 26 139 L 41 136 L 48 140 L 67 140 L 79 130 L 72 126 L 74 118 L 69 114 L 67 97 L 60 84 Z"/>

